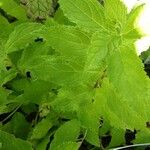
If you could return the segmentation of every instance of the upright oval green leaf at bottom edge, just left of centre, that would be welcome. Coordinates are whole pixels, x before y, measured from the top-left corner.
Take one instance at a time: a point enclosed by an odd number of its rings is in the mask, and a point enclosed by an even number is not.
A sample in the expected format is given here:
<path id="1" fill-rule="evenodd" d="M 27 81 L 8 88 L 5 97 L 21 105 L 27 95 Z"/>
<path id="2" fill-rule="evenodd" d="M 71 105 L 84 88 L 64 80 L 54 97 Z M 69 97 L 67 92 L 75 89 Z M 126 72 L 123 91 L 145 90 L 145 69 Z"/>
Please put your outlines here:
<path id="1" fill-rule="evenodd" d="M 75 147 L 77 148 L 77 144 L 75 144 L 75 142 L 77 141 L 79 133 L 80 123 L 77 120 L 71 120 L 66 122 L 56 131 L 54 135 L 54 140 L 51 143 L 50 150 L 57 150 L 60 148 L 60 146 L 63 145 L 67 146 L 68 148 L 76 145 Z"/>

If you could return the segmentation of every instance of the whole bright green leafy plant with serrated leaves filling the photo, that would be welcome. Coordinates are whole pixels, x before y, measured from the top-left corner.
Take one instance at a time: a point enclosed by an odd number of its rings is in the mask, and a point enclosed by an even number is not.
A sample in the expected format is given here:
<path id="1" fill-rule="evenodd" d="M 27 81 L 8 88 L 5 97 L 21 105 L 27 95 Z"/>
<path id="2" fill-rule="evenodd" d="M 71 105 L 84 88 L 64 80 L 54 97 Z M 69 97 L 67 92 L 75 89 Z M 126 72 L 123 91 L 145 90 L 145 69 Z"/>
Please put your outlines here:
<path id="1" fill-rule="evenodd" d="M 144 5 L 129 13 L 120 0 L 59 5 L 42 24 L 25 17 L 12 27 L 1 17 L 1 149 L 149 142 L 150 80 L 134 47 L 143 36 L 135 22 Z M 20 18 L 20 7 L 9 9 Z"/>

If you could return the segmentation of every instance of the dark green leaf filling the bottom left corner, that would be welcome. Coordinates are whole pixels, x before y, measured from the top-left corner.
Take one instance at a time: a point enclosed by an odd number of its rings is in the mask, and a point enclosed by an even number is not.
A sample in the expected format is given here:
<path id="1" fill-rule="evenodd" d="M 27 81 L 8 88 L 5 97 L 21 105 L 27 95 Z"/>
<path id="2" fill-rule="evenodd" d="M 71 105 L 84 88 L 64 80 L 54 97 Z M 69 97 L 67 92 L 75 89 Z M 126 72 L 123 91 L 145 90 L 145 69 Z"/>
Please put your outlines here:
<path id="1" fill-rule="evenodd" d="M 0 131 L 1 150 L 33 150 L 32 145 L 24 140 L 15 138 L 12 134 Z"/>

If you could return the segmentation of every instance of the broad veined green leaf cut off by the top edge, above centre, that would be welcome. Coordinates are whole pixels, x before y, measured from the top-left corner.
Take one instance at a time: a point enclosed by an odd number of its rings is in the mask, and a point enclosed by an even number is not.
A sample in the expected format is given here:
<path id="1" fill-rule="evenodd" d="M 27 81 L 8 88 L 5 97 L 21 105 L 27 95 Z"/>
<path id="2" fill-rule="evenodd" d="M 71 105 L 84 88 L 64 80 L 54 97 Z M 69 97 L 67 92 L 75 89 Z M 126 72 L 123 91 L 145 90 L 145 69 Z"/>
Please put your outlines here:
<path id="1" fill-rule="evenodd" d="M 60 0 L 65 16 L 78 26 L 89 30 L 106 30 L 104 24 L 104 8 L 97 0 Z"/>

